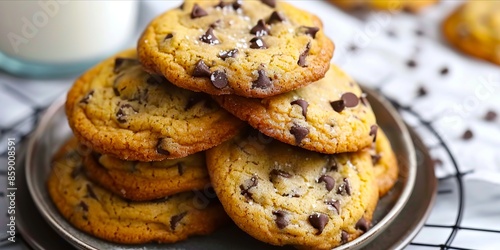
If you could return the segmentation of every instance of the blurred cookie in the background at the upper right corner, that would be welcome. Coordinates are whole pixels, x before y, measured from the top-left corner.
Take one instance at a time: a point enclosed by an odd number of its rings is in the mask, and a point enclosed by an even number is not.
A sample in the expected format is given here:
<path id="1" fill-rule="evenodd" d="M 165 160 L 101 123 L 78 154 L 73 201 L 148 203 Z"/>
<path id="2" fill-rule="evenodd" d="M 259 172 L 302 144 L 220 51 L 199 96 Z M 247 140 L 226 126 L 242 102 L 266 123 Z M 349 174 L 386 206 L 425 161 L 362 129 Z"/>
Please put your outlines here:
<path id="1" fill-rule="evenodd" d="M 500 65 L 500 2 L 468 1 L 443 22 L 442 29 L 459 50 Z"/>

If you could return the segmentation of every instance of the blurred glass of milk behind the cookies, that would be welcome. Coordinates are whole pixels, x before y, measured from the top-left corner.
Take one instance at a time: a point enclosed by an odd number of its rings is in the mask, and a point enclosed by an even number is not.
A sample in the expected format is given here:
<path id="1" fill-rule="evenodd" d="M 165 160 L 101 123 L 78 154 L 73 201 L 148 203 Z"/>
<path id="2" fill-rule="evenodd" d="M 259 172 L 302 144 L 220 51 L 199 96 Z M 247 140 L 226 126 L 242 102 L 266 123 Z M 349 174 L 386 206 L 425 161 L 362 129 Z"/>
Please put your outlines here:
<path id="1" fill-rule="evenodd" d="M 0 1 L 0 70 L 32 77 L 81 73 L 134 45 L 138 1 Z"/>

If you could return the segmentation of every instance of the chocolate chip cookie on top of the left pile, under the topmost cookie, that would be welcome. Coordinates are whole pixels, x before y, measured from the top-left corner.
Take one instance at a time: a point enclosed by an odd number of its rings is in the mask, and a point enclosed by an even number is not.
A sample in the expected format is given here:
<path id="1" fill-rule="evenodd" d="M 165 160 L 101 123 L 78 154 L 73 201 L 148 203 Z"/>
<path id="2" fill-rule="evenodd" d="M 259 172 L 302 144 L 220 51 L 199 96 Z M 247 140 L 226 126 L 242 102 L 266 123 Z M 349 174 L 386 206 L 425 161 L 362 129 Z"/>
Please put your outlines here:
<path id="1" fill-rule="evenodd" d="M 145 72 L 136 56 L 121 52 L 70 89 L 66 114 L 80 142 L 124 160 L 158 161 L 213 147 L 242 127 L 205 94 Z"/>

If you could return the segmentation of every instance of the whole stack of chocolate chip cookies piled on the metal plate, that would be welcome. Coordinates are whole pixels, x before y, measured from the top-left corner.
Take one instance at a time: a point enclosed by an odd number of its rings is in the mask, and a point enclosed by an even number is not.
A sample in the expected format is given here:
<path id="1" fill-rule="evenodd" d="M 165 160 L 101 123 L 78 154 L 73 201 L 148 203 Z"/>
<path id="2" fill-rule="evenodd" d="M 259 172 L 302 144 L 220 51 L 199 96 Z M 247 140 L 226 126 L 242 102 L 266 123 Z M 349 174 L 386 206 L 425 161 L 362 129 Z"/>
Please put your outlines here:
<path id="1" fill-rule="evenodd" d="M 284 2 L 185 1 L 74 83 L 75 137 L 53 158 L 51 198 L 118 243 L 229 219 L 273 245 L 355 239 L 398 166 L 333 50 L 315 15 Z"/>

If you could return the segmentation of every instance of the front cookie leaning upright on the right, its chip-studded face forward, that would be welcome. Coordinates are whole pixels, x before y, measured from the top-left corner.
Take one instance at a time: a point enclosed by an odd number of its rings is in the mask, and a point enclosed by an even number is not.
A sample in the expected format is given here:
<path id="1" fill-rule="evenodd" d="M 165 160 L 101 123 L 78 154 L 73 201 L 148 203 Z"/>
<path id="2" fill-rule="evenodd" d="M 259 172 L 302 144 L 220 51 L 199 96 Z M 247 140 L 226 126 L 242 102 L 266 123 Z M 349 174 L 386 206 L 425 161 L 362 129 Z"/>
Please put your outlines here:
<path id="1" fill-rule="evenodd" d="M 325 155 L 249 130 L 207 151 L 212 185 L 242 230 L 273 245 L 331 249 L 370 228 L 370 153 Z"/>

